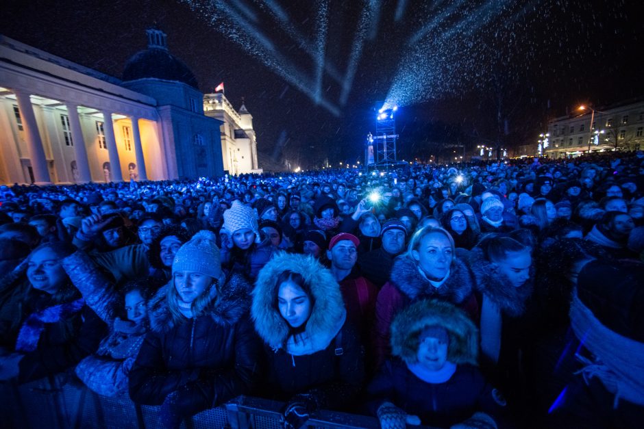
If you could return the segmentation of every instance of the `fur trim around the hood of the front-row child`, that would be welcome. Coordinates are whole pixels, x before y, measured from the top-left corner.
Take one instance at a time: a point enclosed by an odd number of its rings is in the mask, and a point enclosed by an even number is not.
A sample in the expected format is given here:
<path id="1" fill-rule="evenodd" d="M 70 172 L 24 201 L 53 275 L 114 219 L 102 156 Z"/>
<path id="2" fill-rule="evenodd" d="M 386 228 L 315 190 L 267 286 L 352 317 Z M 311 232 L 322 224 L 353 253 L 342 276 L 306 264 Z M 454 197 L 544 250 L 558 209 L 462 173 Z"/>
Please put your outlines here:
<path id="1" fill-rule="evenodd" d="M 420 300 L 402 310 L 391 324 L 391 353 L 408 364 L 417 362 L 418 334 L 429 326 L 442 326 L 449 335 L 447 360 L 477 365 L 478 330 L 469 316 L 440 300 Z"/>

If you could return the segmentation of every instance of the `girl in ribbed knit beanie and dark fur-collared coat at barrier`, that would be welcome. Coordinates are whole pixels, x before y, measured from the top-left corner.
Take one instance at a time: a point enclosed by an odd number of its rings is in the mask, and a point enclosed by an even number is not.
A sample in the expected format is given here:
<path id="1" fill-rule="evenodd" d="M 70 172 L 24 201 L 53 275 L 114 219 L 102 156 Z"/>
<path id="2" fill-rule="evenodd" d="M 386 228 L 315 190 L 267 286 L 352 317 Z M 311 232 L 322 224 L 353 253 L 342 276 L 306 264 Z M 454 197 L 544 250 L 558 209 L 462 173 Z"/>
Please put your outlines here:
<path id="1" fill-rule="evenodd" d="M 199 231 L 177 251 L 173 279 L 151 300 L 152 332 L 130 372 L 130 397 L 161 405 L 166 428 L 248 393 L 256 379 L 251 286 L 223 274 L 215 242 L 214 233 Z"/>

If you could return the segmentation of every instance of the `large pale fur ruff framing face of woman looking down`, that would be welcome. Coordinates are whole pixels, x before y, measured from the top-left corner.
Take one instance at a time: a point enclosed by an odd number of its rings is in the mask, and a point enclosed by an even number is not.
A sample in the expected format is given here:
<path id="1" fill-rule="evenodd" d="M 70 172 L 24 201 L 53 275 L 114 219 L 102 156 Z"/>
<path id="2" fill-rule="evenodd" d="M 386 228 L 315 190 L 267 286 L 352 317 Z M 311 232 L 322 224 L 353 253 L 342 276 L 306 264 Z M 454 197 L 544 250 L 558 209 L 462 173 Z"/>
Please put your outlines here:
<path id="1" fill-rule="evenodd" d="M 290 340 L 291 329 L 280 311 L 275 308 L 273 289 L 275 281 L 286 270 L 297 272 L 310 285 L 315 304 L 301 335 L 306 352 L 288 350 L 293 354 L 311 354 L 326 348 L 342 328 L 345 318 L 345 304 L 340 293 L 340 285 L 331 271 L 323 267 L 317 259 L 306 255 L 293 255 L 286 252 L 277 254 L 260 271 L 253 291 L 251 315 L 255 330 L 271 348 L 284 348 Z M 286 347 L 290 349 L 290 347 Z"/>

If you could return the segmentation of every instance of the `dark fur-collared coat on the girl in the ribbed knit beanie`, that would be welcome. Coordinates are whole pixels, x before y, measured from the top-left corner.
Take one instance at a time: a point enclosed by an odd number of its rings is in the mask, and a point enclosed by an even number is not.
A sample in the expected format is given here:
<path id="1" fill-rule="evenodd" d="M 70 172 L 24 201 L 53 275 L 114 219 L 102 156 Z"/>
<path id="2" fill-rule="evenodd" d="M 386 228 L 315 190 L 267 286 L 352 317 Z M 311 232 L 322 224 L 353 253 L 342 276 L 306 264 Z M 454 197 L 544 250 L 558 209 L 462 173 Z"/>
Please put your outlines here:
<path id="1" fill-rule="evenodd" d="M 141 404 L 173 406 L 193 415 L 251 390 L 260 363 L 260 342 L 248 319 L 250 285 L 233 274 L 201 315 L 173 321 L 166 289 L 151 300 L 152 332 L 129 374 L 129 395 Z"/>

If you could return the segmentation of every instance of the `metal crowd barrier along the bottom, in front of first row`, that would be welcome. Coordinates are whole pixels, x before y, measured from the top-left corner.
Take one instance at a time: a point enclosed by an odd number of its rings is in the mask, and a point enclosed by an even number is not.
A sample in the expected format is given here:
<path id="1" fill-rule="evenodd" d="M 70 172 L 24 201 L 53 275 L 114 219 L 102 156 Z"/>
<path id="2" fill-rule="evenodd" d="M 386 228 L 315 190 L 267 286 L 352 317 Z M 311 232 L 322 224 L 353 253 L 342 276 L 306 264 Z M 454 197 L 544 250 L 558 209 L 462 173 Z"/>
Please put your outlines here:
<path id="1" fill-rule="evenodd" d="M 185 429 L 282 429 L 283 402 L 240 396 L 186 419 Z M 0 383 L 0 428 L 151 429 L 160 428 L 158 406 L 107 398 L 74 376 L 61 374 L 26 385 Z M 380 428 L 375 417 L 319 411 L 307 428 Z M 425 426 L 414 426 L 425 428 Z"/>

